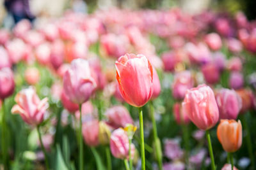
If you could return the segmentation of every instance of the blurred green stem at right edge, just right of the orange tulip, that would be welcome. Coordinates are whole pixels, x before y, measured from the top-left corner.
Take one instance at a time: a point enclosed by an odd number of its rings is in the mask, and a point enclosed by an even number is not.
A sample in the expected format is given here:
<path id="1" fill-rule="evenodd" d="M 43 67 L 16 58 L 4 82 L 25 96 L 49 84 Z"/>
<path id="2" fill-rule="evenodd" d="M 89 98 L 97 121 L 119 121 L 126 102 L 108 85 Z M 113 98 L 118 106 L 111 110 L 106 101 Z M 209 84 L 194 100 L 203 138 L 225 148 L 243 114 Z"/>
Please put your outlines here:
<path id="1" fill-rule="evenodd" d="M 249 113 L 247 113 L 247 114 L 249 114 Z M 251 139 L 251 136 L 250 136 L 250 129 L 249 129 L 248 124 L 247 124 L 246 119 L 245 119 L 245 115 L 242 115 L 241 120 L 242 120 L 244 130 L 246 131 L 245 138 L 246 138 L 247 149 L 248 149 L 248 153 L 250 155 L 250 159 L 251 159 L 251 162 L 252 162 L 252 169 L 254 169 L 254 166 L 255 166 L 254 161 L 255 160 L 254 160 L 254 156 L 253 156 L 252 139 Z"/>

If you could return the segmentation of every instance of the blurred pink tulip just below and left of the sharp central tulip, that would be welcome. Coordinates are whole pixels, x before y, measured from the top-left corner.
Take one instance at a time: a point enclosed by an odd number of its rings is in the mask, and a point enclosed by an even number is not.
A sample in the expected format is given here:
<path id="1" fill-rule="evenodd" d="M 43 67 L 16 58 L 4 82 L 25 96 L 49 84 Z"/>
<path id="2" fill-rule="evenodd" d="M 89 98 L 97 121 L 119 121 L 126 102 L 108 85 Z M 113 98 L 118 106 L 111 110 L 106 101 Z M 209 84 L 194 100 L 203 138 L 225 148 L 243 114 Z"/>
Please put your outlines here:
<path id="1" fill-rule="evenodd" d="M 126 124 L 133 124 L 129 111 L 124 106 L 113 106 L 106 113 L 108 123 L 114 128 L 125 127 Z"/>

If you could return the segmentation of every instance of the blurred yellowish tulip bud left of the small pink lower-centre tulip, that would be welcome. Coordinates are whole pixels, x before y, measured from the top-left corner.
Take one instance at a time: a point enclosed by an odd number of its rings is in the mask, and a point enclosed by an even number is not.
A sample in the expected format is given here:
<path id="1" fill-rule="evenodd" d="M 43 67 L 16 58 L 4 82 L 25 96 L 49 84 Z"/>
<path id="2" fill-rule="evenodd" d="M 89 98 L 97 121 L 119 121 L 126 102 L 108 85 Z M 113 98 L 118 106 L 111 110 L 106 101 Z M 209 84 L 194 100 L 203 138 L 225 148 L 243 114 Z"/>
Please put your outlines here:
<path id="1" fill-rule="evenodd" d="M 99 122 L 99 142 L 101 145 L 108 145 L 111 132 L 108 125 L 104 122 Z"/>

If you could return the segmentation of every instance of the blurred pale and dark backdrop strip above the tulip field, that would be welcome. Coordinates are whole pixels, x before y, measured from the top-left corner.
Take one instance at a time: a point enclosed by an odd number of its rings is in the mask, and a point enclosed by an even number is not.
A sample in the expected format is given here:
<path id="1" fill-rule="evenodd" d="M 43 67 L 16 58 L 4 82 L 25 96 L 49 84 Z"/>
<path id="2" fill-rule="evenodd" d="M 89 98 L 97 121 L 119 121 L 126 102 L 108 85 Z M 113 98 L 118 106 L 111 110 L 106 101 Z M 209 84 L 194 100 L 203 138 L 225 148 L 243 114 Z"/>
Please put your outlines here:
<path id="1" fill-rule="evenodd" d="M 204 10 L 225 11 L 236 13 L 244 11 L 248 20 L 256 17 L 255 0 L 0 0 L 0 25 L 12 27 L 17 18 L 12 13 L 22 13 L 33 19 L 35 17 L 60 17 L 64 11 L 72 9 L 82 13 L 108 10 L 109 8 L 136 9 L 169 9 L 179 7 L 196 14 Z M 23 10 L 23 11 L 22 11 Z M 19 19 L 18 19 L 19 20 Z"/>

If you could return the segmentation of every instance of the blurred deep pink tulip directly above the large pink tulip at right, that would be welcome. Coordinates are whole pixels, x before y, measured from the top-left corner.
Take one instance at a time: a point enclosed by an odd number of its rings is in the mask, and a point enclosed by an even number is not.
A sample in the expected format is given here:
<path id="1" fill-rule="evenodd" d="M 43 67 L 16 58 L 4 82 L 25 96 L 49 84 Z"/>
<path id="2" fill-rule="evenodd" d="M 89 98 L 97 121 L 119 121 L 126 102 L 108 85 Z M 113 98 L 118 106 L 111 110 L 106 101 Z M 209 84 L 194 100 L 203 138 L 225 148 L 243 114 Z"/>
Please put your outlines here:
<path id="1" fill-rule="evenodd" d="M 202 73 L 207 83 L 214 84 L 220 80 L 220 72 L 214 63 L 207 63 L 202 66 Z"/>

